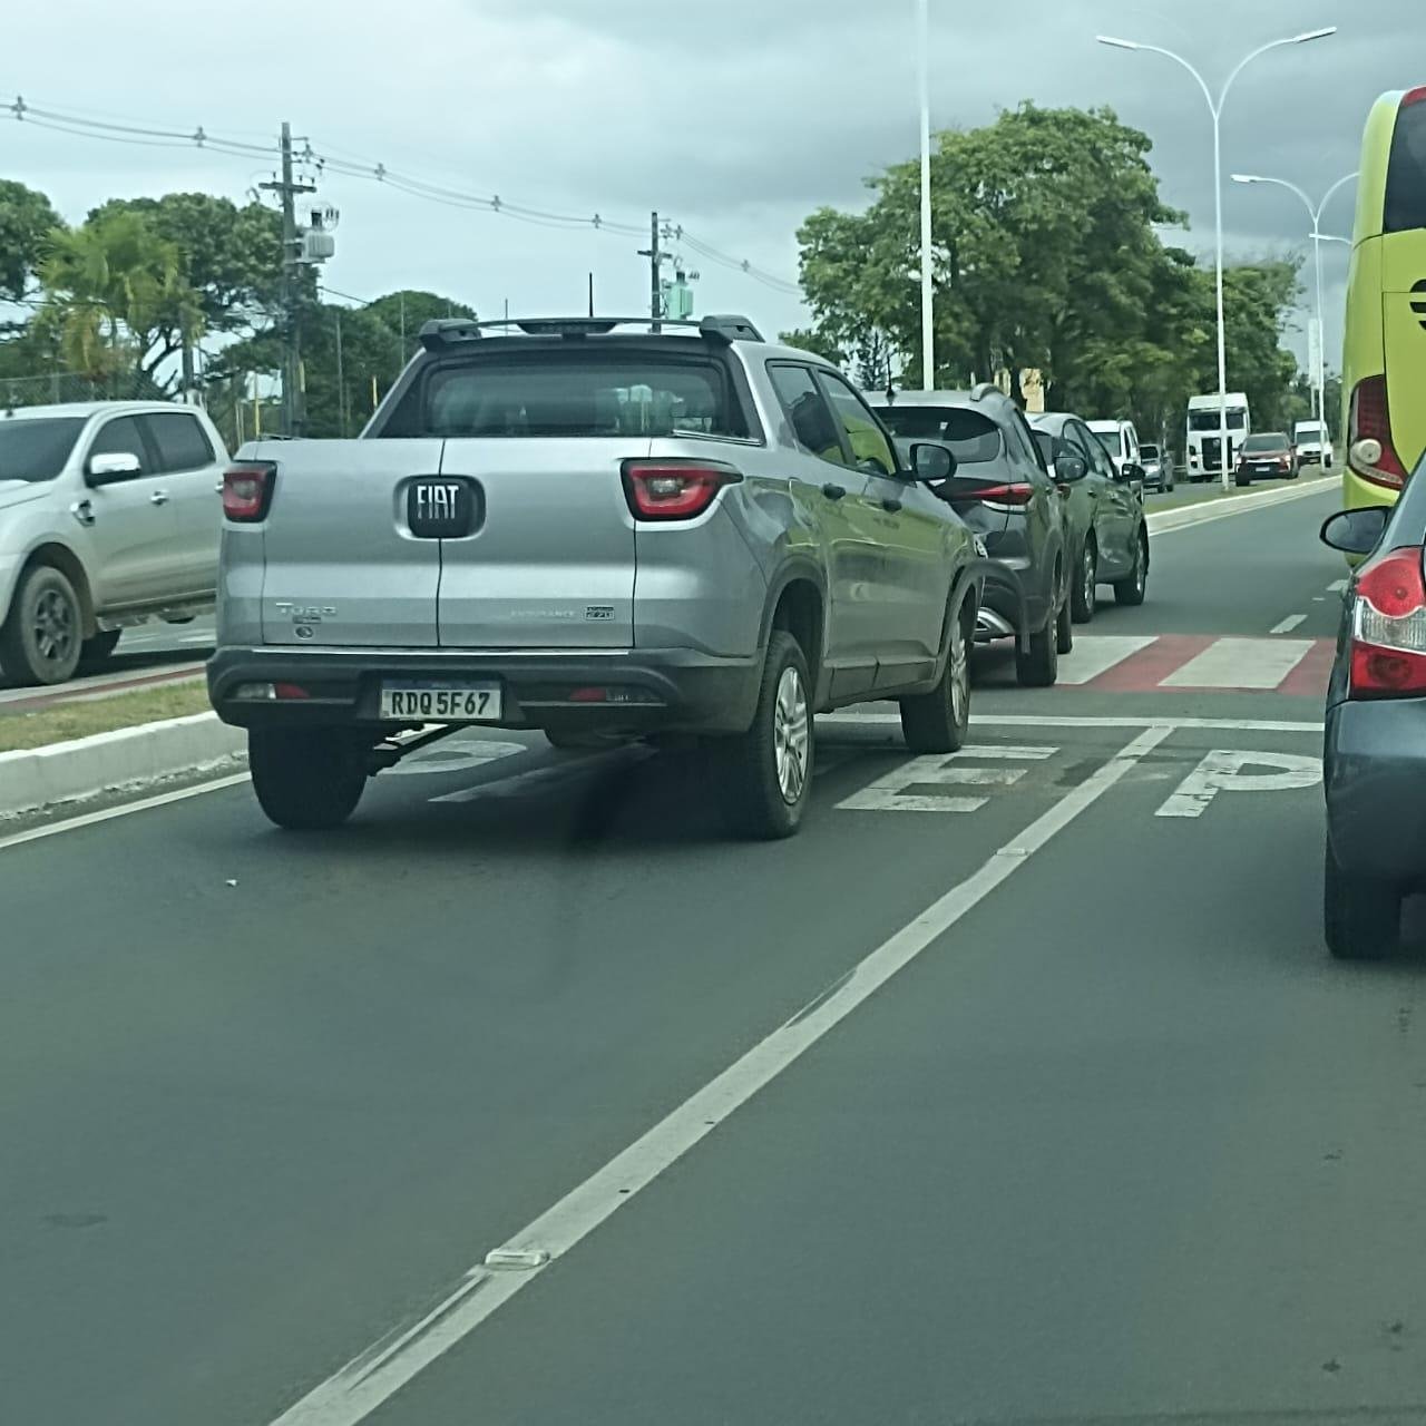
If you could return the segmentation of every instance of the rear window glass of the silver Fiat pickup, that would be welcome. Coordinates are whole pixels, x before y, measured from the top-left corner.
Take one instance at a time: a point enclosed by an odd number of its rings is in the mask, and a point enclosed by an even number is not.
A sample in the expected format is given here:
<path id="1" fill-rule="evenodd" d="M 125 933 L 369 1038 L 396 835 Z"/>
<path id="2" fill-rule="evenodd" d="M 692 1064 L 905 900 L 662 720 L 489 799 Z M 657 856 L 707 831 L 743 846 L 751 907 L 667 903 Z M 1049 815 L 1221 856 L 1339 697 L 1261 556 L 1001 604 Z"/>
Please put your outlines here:
<path id="1" fill-rule="evenodd" d="M 656 352 L 492 354 L 431 368 L 381 436 L 746 436 L 716 361 Z"/>

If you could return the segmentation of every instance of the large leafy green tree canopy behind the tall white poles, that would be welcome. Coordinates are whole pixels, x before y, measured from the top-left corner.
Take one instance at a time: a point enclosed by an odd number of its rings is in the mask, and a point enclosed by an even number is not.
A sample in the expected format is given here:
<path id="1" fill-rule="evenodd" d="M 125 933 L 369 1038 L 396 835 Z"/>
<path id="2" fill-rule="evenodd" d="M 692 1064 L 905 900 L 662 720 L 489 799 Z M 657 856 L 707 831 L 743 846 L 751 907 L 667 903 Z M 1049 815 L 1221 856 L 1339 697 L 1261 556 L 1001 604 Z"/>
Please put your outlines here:
<path id="1" fill-rule="evenodd" d="M 935 385 L 1000 371 L 1018 382 L 1032 368 L 1050 408 L 1132 412 L 1152 431 L 1216 388 L 1212 275 L 1158 235 L 1184 215 L 1159 198 L 1149 148 L 1112 110 L 1031 103 L 937 135 Z M 897 352 L 900 379 L 920 384 L 920 165 L 894 164 L 868 188 L 863 212 L 820 208 L 799 231 L 814 327 L 789 341 L 863 368 Z M 1271 409 L 1293 371 L 1278 338 L 1295 270 L 1238 267 L 1225 289 L 1229 384 Z"/>

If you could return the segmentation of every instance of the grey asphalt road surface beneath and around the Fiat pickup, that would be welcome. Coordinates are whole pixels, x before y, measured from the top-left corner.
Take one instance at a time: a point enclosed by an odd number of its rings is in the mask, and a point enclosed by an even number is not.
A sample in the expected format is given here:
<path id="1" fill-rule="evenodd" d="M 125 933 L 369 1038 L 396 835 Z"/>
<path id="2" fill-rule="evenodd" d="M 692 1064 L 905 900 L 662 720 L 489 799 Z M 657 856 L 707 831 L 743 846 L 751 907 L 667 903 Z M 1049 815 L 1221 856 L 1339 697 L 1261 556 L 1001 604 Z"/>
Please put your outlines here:
<path id="1" fill-rule="evenodd" d="M 1155 538 L 964 756 L 821 720 L 789 843 L 508 733 L 341 834 L 0 843 L 0 1420 L 1419 1423 L 1422 937 L 1320 941 L 1330 506 Z"/>

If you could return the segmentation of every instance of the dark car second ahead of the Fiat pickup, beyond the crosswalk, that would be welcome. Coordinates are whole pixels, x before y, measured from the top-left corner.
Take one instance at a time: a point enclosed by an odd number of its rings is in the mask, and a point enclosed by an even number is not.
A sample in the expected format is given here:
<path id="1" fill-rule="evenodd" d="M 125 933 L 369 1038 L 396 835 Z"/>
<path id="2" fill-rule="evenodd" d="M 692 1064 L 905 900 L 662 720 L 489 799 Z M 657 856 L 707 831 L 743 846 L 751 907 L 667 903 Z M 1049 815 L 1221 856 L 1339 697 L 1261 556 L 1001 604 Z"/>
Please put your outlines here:
<path id="1" fill-rule="evenodd" d="M 1094 617 L 1099 585 L 1111 585 L 1121 605 L 1142 605 L 1149 533 L 1144 501 L 1134 488 L 1139 468 L 1127 463 L 1117 471 L 1099 438 L 1079 416 L 1065 412 L 1035 416 L 1035 441 L 1065 492 L 1075 623 Z"/>

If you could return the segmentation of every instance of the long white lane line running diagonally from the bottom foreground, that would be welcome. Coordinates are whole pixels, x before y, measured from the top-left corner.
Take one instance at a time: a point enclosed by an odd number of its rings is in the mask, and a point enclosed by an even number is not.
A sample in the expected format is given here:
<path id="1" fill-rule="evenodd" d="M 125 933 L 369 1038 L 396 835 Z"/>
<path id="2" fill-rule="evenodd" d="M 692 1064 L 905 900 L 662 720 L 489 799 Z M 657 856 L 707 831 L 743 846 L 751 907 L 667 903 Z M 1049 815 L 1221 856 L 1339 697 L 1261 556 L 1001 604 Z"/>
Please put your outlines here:
<path id="1" fill-rule="evenodd" d="M 1139 759 L 1158 747 L 1169 732 L 1168 727 L 1151 727 L 1139 733 L 1018 837 L 995 851 L 967 880 L 951 887 L 915 920 L 858 961 L 831 988 L 684 1099 L 602 1169 L 570 1189 L 553 1208 L 496 1245 L 495 1251 L 501 1256 L 548 1253 L 548 1259 L 540 1259 L 540 1266 L 525 1272 L 491 1269 L 485 1266 L 486 1255 L 482 1253 L 462 1273 L 458 1285 L 419 1322 L 405 1329 L 398 1328 L 375 1342 L 312 1387 L 270 1426 L 358 1426 L 421 1370 L 493 1316 L 522 1288 L 548 1272 L 548 1263 L 558 1262 L 632 1202 L 716 1125 L 747 1104 L 759 1089 L 771 1084 L 823 1035 L 910 965 L 961 917 L 1024 867 L 1057 833 L 1092 807 Z"/>

